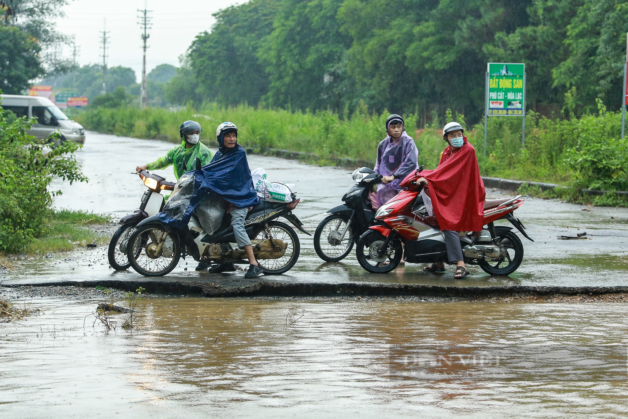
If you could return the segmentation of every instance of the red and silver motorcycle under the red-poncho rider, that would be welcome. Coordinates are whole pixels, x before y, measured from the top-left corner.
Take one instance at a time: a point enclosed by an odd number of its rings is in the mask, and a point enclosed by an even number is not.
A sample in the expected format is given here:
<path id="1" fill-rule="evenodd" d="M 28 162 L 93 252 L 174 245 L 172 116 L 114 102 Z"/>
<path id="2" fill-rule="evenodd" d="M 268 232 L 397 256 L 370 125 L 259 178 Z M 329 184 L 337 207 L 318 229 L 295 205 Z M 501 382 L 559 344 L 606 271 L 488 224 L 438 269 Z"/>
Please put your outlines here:
<path id="1" fill-rule="evenodd" d="M 423 184 L 416 183 L 421 170 L 423 167 L 399 184 L 407 190 L 377 210 L 375 218 L 379 224 L 370 226 L 357 241 L 355 254 L 367 271 L 393 271 L 402 256 L 406 262 L 414 264 L 448 262 L 443 232 L 436 218 L 428 216 L 421 197 Z M 523 201 L 521 195 L 484 201 L 486 228 L 479 235 L 473 232 L 458 234 L 465 264 L 480 265 L 491 275 L 509 275 L 517 270 L 523 260 L 523 244 L 512 227 L 496 226 L 494 221 L 510 221 L 525 238 L 534 242 L 524 231 L 521 221 L 512 215 Z M 401 243 L 405 243 L 405 255 Z"/>

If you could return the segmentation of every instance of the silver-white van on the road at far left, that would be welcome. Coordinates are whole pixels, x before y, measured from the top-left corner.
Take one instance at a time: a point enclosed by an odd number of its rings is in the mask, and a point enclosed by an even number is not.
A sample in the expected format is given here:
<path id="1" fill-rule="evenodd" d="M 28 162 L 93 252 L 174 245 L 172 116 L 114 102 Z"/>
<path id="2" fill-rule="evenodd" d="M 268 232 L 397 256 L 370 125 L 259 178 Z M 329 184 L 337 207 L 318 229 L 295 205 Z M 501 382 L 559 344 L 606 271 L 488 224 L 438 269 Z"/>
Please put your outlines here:
<path id="1" fill-rule="evenodd" d="M 29 135 L 42 140 L 53 132 L 60 131 L 62 141 L 68 140 L 75 143 L 85 143 L 85 130 L 78 122 L 70 120 L 57 105 L 48 98 L 40 96 L 22 96 L 18 94 L 2 94 L 0 106 L 9 109 L 21 118 L 37 118 L 31 129 L 27 131 Z M 33 121 L 35 122 L 35 121 Z"/>

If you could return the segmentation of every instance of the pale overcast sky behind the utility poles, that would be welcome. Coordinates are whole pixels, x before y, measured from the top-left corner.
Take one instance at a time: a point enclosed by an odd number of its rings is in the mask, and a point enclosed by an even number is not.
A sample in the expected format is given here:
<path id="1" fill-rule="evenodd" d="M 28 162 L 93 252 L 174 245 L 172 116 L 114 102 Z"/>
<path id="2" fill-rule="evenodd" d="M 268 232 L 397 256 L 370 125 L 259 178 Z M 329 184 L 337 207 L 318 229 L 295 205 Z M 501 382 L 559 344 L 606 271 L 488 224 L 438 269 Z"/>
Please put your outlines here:
<path id="1" fill-rule="evenodd" d="M 214 24 L 212 13 L 244 0 L 148 0 L 146 3 L 153 16 L 146 52 L 148 73 L 164 63 L 178 66 L 178 56 L 185 53 L 194 37 L 209 31 Z M 65 18 L 57 20 L 57 28 L 66 35 L 75 35 L 80 47 L 77 57 L 80 65 L 100 63 L 100 31 L 106 19 L 107 31 L 111 31 L 107 65 L 131 67 L 139 82 L 142 40 L 138 9 L 144 9 L 144 0 L 70 0 L 63 8 Z M 69 53 L 67 48 L 65 53 Z"/>

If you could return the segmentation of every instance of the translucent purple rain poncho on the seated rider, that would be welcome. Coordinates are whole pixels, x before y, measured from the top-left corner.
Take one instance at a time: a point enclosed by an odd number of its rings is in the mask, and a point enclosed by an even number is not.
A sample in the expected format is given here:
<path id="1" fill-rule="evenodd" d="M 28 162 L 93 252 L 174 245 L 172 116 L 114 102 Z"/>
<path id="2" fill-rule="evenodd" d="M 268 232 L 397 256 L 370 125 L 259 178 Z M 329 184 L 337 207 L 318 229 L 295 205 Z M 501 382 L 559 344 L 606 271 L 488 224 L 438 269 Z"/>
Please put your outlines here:
<path id="1" fill-rule="evenodd" d="M 401 137 L 391 143 L 391 137 L 387 136 L 379 143 L 377 147 L 377 162 L 375 170 L 382 176 L 395 176 L 396 179 L 390 183 L 380 183 L 377 186 L 377 199 L 373 203 L 373 208 L 379 208 L 384 203 L 393 198 L 401 191 L 399 183 L 404 177 L 414 170 L 418 169 L 419 150 L 414 144 L 412 137 L 404 130 Z"/>

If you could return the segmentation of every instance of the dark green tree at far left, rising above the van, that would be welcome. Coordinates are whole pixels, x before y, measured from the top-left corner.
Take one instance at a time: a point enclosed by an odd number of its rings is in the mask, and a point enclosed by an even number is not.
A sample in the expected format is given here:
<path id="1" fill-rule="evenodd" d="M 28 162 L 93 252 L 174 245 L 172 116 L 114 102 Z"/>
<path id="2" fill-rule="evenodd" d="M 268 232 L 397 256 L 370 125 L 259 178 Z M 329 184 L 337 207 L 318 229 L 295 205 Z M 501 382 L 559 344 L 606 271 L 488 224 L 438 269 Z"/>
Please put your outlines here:
<path id="1" fill-rule="evenodd" d="M 0 25 L 0 88 L 20 94 L 29 81 L 45 73 L 38 53 L 41 47 L 32 36 L 16 27 Z"/>

